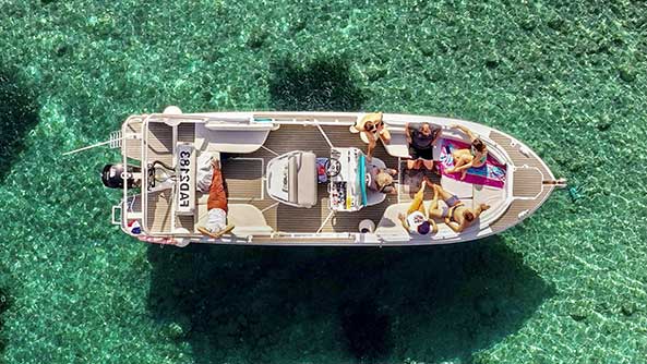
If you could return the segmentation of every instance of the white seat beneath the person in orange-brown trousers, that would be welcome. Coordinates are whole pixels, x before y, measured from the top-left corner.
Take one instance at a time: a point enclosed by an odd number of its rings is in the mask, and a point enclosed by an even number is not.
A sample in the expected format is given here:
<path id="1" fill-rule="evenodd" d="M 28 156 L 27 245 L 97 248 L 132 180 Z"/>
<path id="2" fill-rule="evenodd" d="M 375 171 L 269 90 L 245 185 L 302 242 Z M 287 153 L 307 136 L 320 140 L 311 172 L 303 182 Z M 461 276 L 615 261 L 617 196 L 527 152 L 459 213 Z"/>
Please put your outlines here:
<path id="1" fill-rule="evenodd" d="M 204 226 L 207 219 L 206 202 L 208 194 L 203 194 L 197 201 L 196 226 Z M 238 236 L 268 235 L 274 229 L 265 220 L 263 213 L 254 205 L 229 204 L 227 211 L 227 223 L 233 225 L 232 233 Z"/>

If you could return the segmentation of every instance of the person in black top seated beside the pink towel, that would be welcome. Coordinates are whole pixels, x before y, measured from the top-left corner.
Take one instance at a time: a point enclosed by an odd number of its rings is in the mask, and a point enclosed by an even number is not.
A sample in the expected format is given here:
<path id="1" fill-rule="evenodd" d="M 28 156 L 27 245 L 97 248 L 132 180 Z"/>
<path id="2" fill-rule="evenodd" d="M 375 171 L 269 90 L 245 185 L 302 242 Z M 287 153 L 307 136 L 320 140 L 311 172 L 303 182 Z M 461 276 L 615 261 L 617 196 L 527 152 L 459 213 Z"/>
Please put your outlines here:
<path id="1" fill-rule="evenodd" d="M 442 130 L 438 125 L 431 126 L 424 122 L 421 124 L 405 124 L 407 143 L 409 144 L 409 156 L 407 169 L 420 169 L 420 162 L 424 168 L 433 169 L 433 146 L 441 137 Z"/>

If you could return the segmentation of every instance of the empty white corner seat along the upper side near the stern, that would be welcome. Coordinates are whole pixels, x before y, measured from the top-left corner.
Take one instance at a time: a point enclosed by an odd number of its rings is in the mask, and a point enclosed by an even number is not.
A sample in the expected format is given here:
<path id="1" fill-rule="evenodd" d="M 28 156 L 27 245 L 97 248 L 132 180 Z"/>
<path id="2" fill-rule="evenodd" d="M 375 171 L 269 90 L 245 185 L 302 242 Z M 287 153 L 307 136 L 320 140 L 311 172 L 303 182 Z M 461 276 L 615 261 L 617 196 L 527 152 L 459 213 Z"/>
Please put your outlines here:
<path id="1" fill-rule="evenodd" d="M 253 153 L 263 146 L 272 128 L 269 123 L 253 128 L 195 124 L 195 149 L 203 153 Z"/>

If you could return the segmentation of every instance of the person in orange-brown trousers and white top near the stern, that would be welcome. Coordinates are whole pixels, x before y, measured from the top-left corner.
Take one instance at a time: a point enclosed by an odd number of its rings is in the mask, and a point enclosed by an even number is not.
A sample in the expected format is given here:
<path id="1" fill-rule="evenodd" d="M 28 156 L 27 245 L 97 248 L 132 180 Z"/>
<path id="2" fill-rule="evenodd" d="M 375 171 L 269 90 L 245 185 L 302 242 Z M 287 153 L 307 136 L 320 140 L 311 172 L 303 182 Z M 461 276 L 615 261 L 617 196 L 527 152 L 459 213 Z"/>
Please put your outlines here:
<path id="1" fill-rule="evenodd" d="M 197 231 L 211 238 L 218 239 L 233 230 L 233 226 L 227 225 L 227 192 L 225 191 L 225 183 L 223 181 L 220 161 L 212 159 L 211 165 L 213 177 L 211 186 L 208 187 L 208 199 L 206 202 L 208 217 L 206 226 L 197 227 Z"/>

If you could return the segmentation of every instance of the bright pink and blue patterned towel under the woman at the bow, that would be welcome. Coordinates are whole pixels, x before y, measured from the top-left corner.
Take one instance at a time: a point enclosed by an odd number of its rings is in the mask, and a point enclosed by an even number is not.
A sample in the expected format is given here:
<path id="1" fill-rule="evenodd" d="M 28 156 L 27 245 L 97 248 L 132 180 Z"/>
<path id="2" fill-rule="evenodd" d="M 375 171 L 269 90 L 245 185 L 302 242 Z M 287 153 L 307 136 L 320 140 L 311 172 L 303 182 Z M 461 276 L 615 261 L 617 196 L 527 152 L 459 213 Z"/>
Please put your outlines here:
<path id="1" fill-rule="evenodd" d="M 460 172 L 446 173 L 445 170 L 454 167 L 452 151 L 455 149 L 468 149 L 470 145 L 453 139 L 442 139 L 440 143 L 442 144 L 438 167 L 441 173 L 453 180 L 460 181 Z M 505 184 L 505 165 L 500 163 L 494 157 L 488 155 L 488 159 L 483 166 L 478 168 L 472 167 L 467 170 L 467 174 L 463 182 L 502 189 Z"/>

